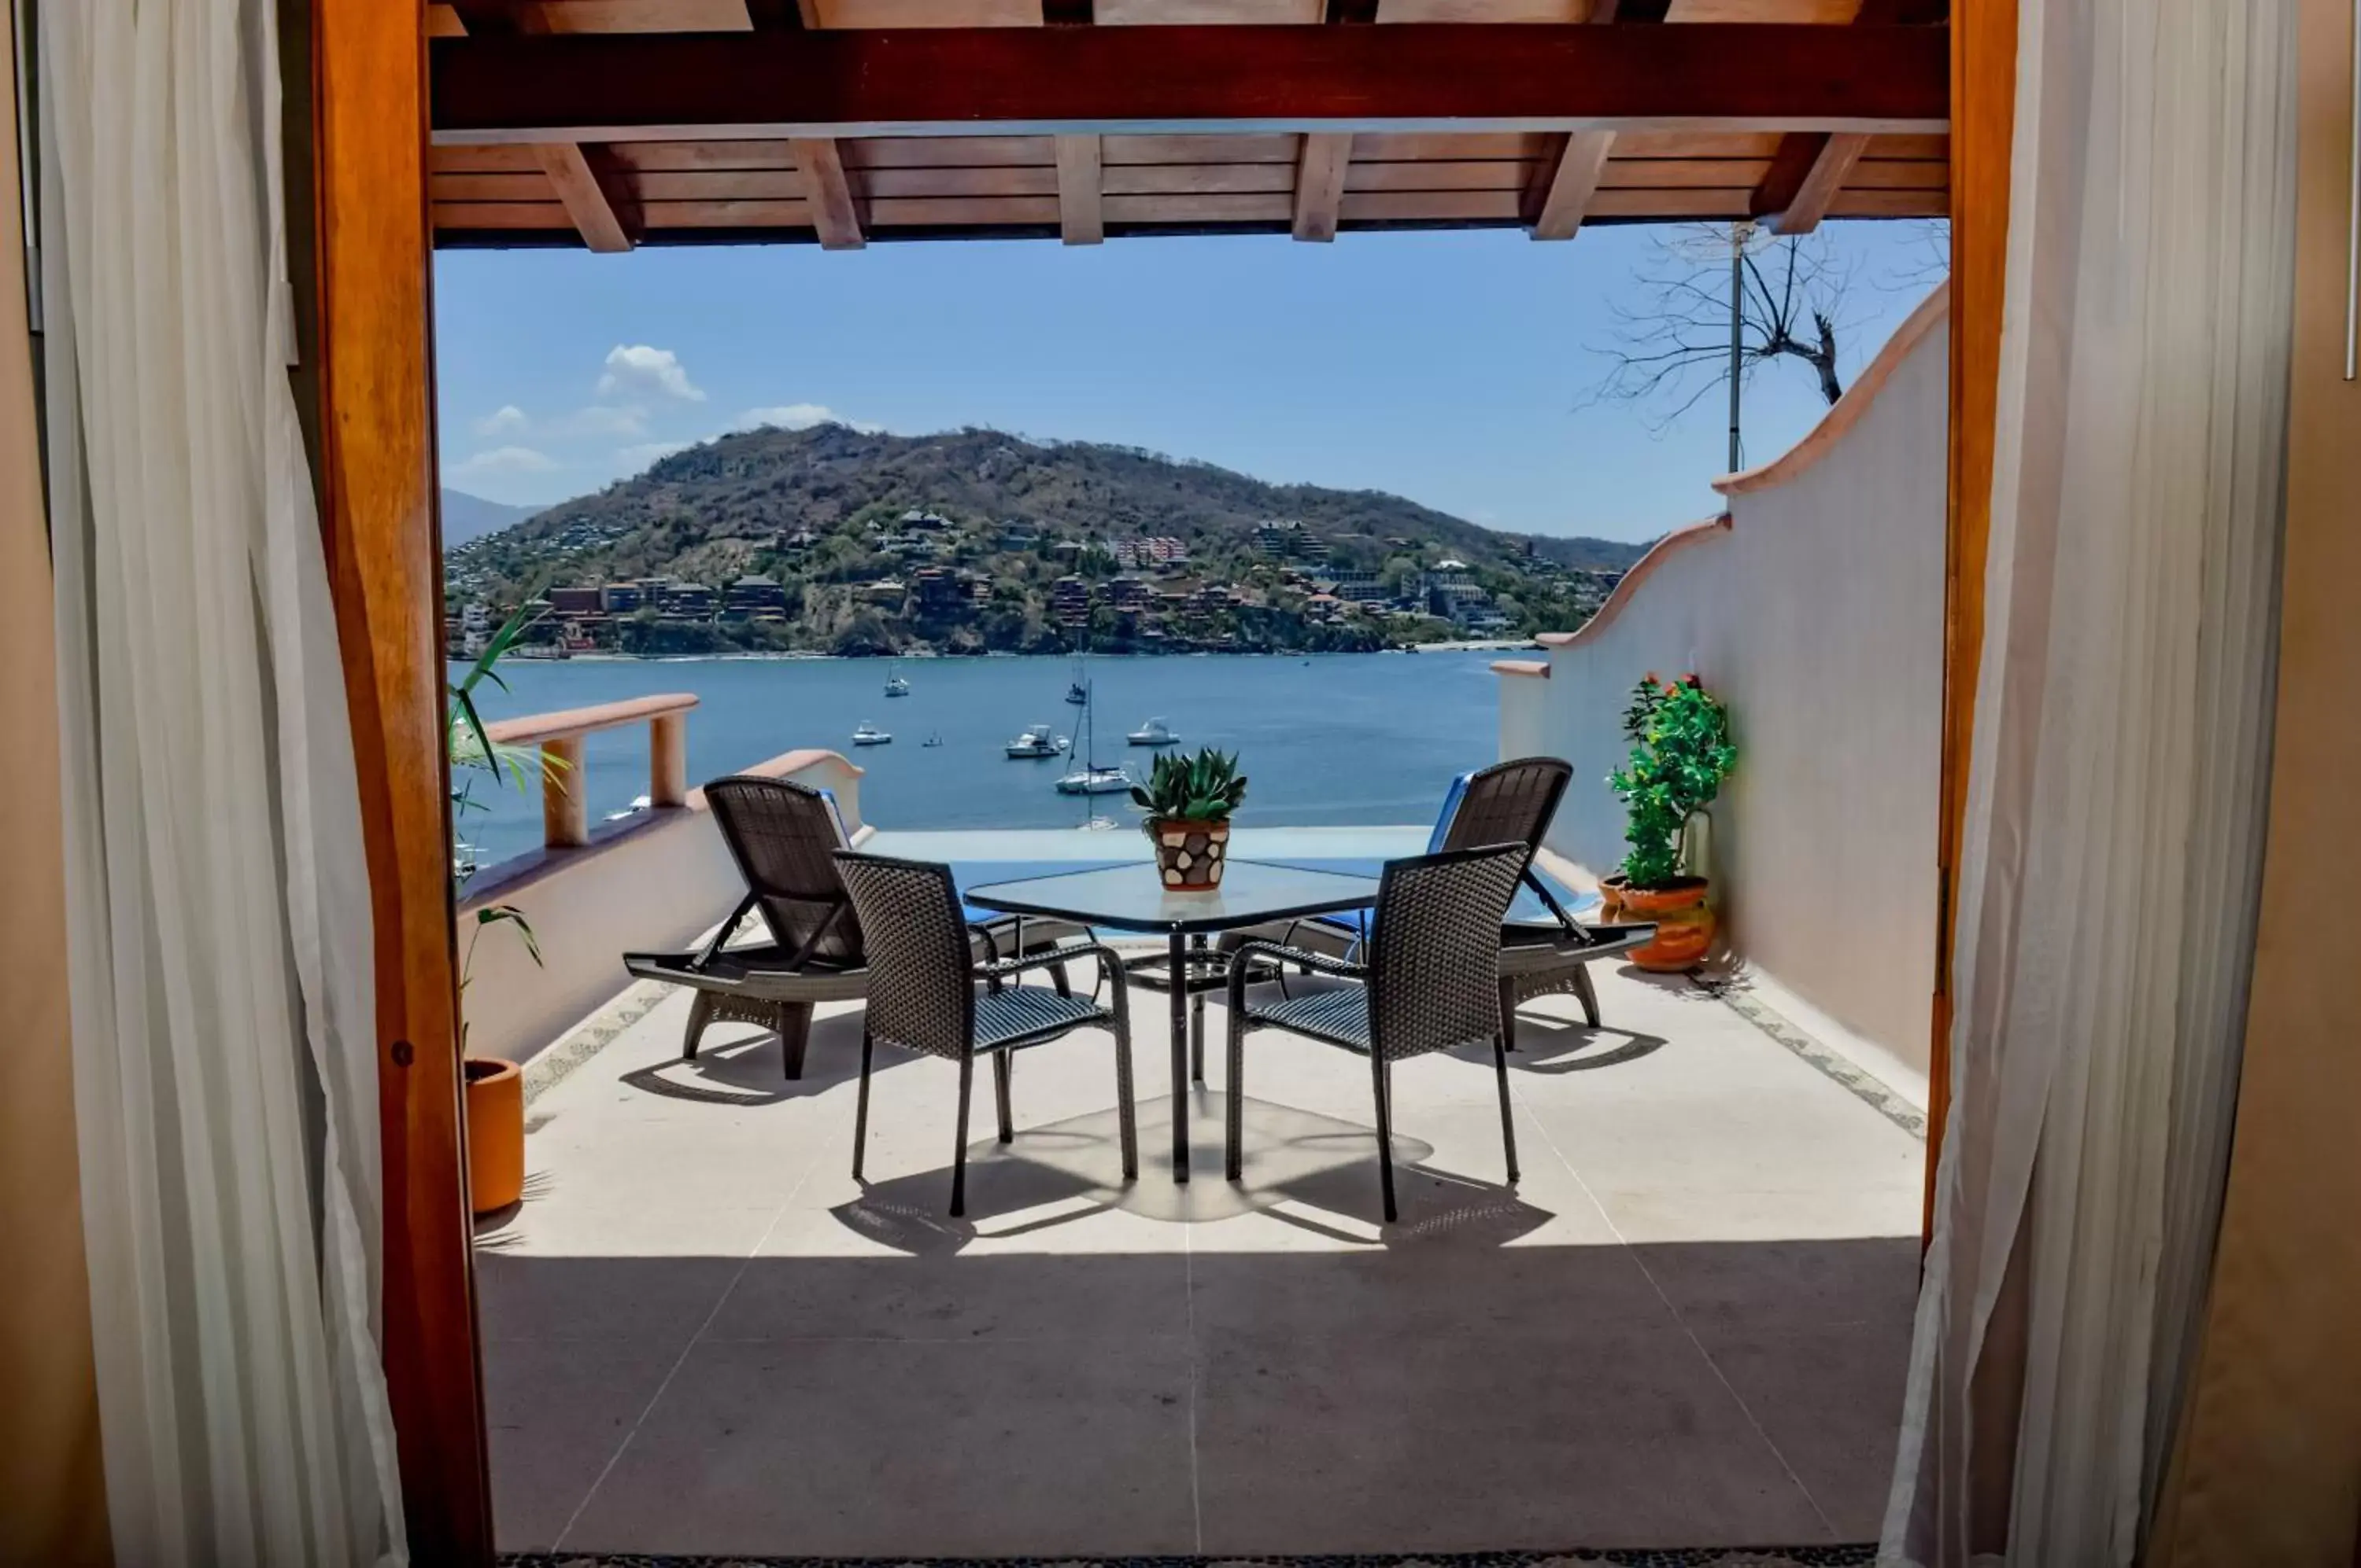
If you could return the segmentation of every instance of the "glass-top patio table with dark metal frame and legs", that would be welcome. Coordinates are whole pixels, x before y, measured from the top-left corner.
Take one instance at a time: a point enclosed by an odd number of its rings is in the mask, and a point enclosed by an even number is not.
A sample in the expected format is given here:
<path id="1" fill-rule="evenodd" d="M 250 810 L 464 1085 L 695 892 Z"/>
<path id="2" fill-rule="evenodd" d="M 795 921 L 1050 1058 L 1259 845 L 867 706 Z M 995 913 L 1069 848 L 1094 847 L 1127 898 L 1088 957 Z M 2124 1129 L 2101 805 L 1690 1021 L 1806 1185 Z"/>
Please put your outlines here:
<path id="1" fill-rule="evenodd" d="M 1190 1118 L 1190 1045 L 1195 1035 L 1197 1061 L 1204 1061 L 1204 1012 L 1190 1019 L 1192 969 L 1218 971 L 1228 960 L 1206 950 L 1211 931 L 1232 931 L 1268 920 L 1294 920 L 1299 915 L 1339 915 L 1376 903 L 1376 877 L 1355 877 L 1339 870 L 1310 870 L 1306 865 L 1270 865 L 1265 861 L 1230 861 L 1221 872 L 1221 887 L 1202 894 L 1180 894 L 1157 882 L 1152 863 L 1103 865 L 1098 870 L 1070 870 L 1055 877 L 1025 877 L 1022 882 L 987 882 L 970 887 L 966 901 L 999 910 L 1003 915 L 1046 915 L 1074 920 L 1086 927 L 1112 927 L 1117 931 L 1162 931 L 1166 953 L 1166 976 L 1171 981 L 1171 1047 L 1173 1047 L 1173 1181 L 1188 1181 L 1188 1118 Z"/>

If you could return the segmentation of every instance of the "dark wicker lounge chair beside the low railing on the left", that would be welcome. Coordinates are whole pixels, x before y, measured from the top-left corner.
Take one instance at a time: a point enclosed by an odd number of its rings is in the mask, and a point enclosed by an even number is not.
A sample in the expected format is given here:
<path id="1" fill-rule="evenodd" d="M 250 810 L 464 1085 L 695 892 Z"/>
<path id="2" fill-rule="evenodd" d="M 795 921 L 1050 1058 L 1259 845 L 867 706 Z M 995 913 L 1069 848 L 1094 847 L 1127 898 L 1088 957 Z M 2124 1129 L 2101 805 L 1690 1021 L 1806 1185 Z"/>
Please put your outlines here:
<path id="1" fill-rule="evenodd" d="M 706 806 L 746 879 L 746 896 L 696 953 L 626 953 L 623 967 L 694 993 L 682 1061 L 696 1061 L 696 1042 L 711 1023 L 760 1023 L 779 1035 L 786 1078 L 803 1078 L 812 1007 L 869 995 L 862 924 L 833 861 L 850 846 L 843 816 L 826 790 L 760 776 L 715 778 L 706 785 Z M 730 938 L 756 913 L 770 941 L 732 948 Z M 968 915 L 968 938 L 982 960 L 1039 957 L 1091 936 L 1058 920 Z M 1065 957 L 1046 962 L 1055 986 L 1067 990 Z"/>

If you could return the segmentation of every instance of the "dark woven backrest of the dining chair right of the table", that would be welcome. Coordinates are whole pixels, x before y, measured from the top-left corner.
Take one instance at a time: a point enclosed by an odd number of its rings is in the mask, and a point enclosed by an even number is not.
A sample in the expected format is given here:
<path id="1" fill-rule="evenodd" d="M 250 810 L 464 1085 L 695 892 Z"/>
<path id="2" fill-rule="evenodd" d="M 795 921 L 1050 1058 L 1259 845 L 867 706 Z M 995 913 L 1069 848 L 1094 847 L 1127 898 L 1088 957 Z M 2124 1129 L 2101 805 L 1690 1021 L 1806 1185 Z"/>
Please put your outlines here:
<path id="1" fill-rule="evenodd" d="M 1499 922 L 1532 851 L 1447 849 L 1388 861 L 1369 936 L 1369 1049 L 1384 1061 L 1499 1033 Z"/>

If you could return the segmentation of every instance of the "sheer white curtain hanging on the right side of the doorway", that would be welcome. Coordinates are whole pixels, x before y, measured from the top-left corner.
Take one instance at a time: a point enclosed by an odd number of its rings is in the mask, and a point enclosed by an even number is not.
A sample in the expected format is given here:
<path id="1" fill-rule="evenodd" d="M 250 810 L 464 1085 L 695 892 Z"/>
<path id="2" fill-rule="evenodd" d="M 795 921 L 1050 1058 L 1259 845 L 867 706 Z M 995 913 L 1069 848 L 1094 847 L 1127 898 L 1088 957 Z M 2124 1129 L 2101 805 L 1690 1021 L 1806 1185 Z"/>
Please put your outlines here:
<path id="1" fill-rule="evenodd" d="M 2023 0 L 1953 1108 L 1884 1559 L 2130 1563 L 2262 875 L 2295 0 Z"/>

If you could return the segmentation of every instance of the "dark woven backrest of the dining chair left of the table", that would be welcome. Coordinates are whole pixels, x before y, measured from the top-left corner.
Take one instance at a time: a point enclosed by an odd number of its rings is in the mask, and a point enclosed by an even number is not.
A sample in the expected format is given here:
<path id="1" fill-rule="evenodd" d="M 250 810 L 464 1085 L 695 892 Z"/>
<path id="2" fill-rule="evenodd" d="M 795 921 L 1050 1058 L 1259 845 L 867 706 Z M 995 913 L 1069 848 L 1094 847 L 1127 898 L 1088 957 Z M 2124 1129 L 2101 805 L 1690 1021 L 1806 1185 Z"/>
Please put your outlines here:
<path id="1" fill-rule="evenodd" d="M 968 924 L 949 865 L 838 851 L 869 938 L 869 1035 L 959 1061 L 975 1037 Z"/>

